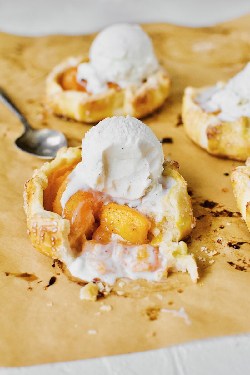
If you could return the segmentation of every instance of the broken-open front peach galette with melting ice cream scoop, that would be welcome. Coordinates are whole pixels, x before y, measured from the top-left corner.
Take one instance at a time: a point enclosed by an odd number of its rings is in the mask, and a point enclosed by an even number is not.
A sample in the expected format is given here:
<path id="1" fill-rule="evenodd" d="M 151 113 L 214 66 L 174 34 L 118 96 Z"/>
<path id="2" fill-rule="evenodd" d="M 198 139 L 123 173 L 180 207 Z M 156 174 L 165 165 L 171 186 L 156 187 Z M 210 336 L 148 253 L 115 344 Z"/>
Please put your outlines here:
<path id="1" fill-rule="evenodd" d="M 198 278 L 181 241 L 195 225 L 186 181 L 136 118 L 106 118 L 82 148 L 61 148 L 26 182 L 24 200 L 34 247 L 86 282 Z"/>

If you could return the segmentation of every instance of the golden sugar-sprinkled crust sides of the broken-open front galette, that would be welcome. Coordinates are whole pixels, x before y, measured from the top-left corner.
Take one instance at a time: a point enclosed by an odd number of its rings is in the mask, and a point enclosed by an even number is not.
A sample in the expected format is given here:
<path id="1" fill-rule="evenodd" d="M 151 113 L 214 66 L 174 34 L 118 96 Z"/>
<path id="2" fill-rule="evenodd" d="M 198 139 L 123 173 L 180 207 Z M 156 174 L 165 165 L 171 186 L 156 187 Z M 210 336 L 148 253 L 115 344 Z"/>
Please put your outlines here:
<path id="1" fill-rule="evenodd" d="M 52 162 L 46 162 L 25 183 L 24 208 L 27 215 L 28 234 L 34 248 L 66 264 L 69 264 L 77 255 L 69 244 L 70 222 L 52 212 L 52 204 L 60 187 L 59 183 L 80 161 L 81 147 L 63 147 Z M 162 240 L 178 242 L 186 237 L 195 226 L 187 183 L 178 173 L 178 163 L 165 160 L 163 174 L 174 178 L 176 184 L 163 197 L 165 217 L 157 223 L 154 229 L 155 246 Z M 56 179 L 59 179 L 57 187 Z M 53 194 L 49 190 L 51 186 Z"/>

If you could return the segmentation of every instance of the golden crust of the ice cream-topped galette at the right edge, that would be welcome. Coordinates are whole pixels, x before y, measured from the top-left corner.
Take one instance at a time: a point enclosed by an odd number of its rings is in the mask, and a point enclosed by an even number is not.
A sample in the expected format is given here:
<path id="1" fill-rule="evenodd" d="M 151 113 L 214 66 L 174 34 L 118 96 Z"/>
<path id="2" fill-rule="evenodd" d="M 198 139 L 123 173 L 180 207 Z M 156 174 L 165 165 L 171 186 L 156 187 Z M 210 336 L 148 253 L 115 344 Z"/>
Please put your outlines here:
<path id="1" fill-rule="evenodd" d="M 250 155 L 250 118 L 227 122 L 205 112 L 195 98 L 207 89 L 185 89 L 182 118 L 187 135 L 210 154 L 245 161 Z"/>

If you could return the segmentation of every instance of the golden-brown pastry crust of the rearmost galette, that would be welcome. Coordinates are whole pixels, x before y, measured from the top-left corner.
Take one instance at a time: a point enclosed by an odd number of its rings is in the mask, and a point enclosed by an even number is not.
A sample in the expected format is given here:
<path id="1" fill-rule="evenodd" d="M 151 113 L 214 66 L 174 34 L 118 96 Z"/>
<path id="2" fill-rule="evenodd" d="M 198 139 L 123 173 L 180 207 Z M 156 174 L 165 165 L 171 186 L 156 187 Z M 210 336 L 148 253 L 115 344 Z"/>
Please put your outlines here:
<path id="1" fill-rule="evenodd" d="M 169 96 L 170 79 L 161 68 L 141 86 L 108 89 L 103 93 L 64 90 L 61 75 L 73 66 L 87 62 L 84 57 L 69 57 L 55 66 L 46 79 L 44 104 L 56 115 L 86 123 L 99 122 L 106 117 L 126 116 L 141 118 L 160 107 Z"/>

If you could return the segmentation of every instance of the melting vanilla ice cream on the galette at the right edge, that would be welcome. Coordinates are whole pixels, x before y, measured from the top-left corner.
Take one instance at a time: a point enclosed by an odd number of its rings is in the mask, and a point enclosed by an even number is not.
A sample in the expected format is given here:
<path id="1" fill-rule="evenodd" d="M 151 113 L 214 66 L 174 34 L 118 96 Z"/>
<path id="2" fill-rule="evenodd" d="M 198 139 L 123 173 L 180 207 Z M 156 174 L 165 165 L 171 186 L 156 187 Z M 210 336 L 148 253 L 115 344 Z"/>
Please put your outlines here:
<path id="1" fill-rule="evenodd" d="M 222 121 L 235 121 L 241 116 L 250 117 L 250 62 L 228 83 L 202 92 L 196 102 L 207 112 L 219 111 Z"/>

